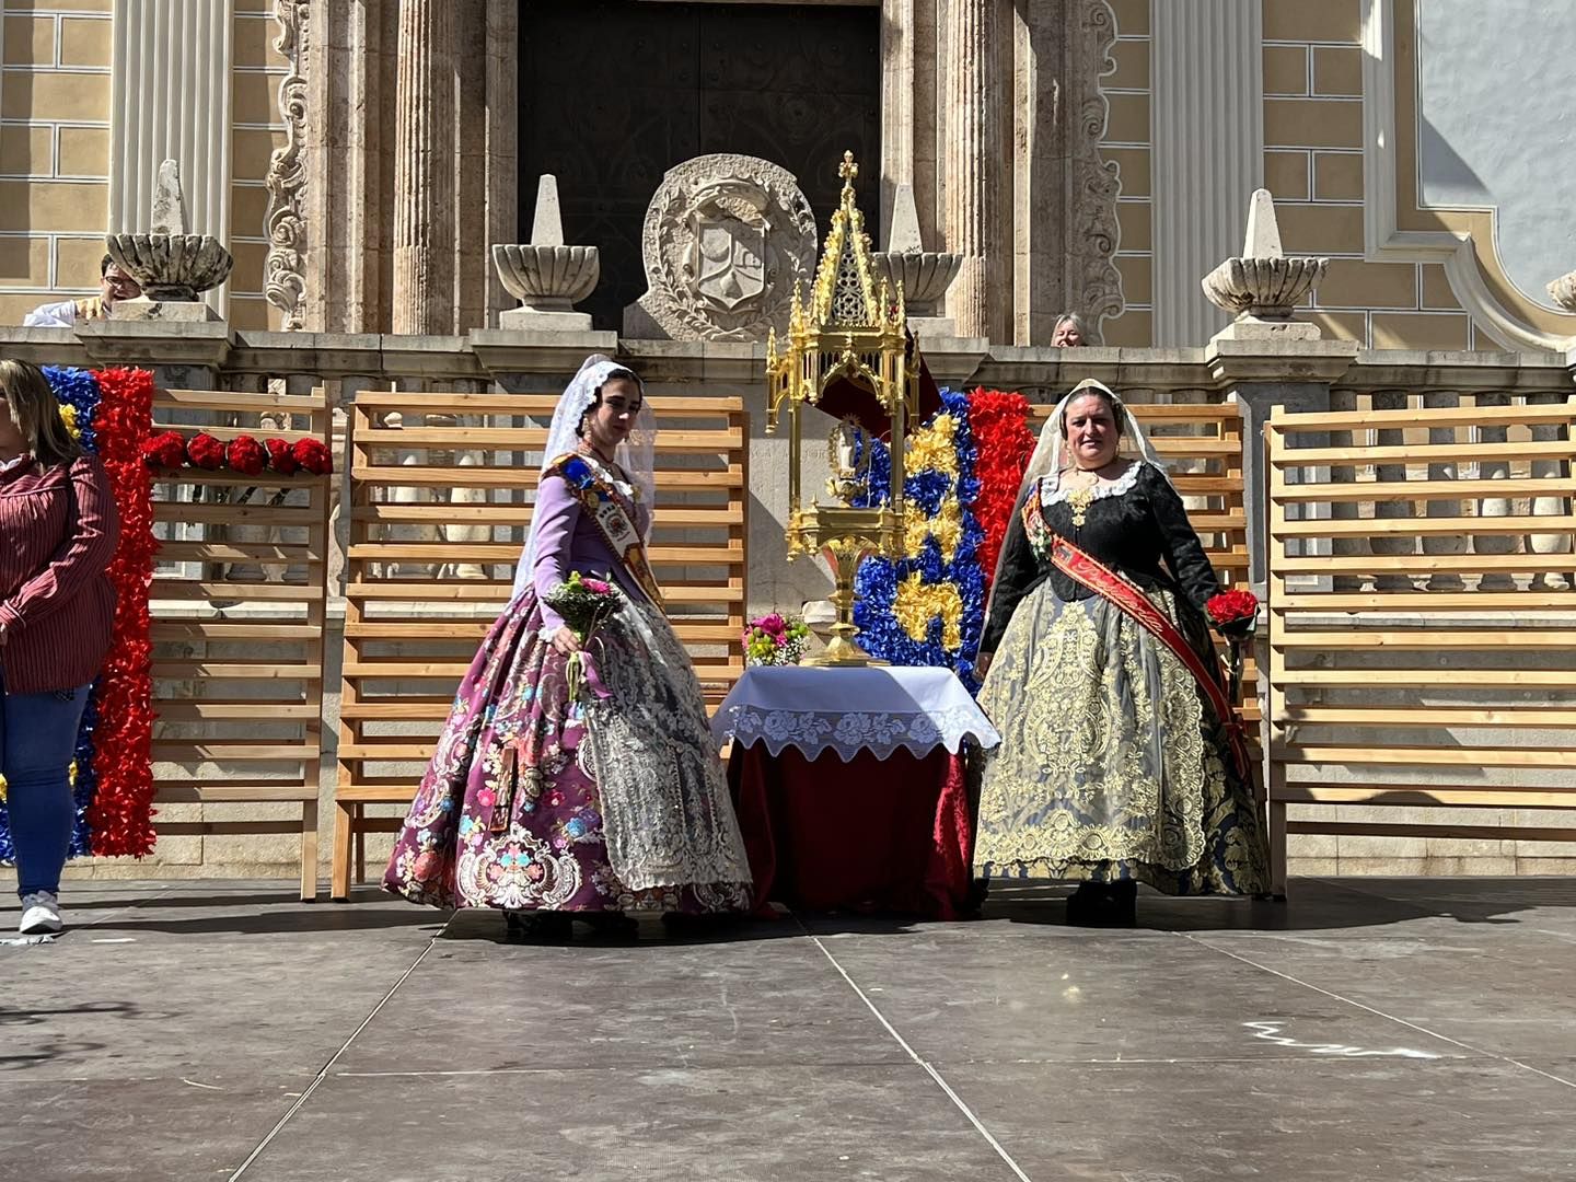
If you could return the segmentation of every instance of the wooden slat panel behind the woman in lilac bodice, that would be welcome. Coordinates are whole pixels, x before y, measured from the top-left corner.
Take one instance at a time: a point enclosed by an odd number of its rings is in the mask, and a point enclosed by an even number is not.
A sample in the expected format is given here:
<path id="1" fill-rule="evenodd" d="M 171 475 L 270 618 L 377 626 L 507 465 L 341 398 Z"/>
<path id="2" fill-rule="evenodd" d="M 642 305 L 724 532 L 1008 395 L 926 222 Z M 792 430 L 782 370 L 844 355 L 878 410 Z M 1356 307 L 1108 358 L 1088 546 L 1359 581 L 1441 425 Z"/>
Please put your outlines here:
<path id="1" fill-rule="evenodd" d="M 558 396 L 364 391 L 350 413 L 334 897 L 364 834 L 397 824 L 454 689 L 509 599 Z M 744 670 L 749 421 L 662 397 L 651 561 L 708 704 Z"/>

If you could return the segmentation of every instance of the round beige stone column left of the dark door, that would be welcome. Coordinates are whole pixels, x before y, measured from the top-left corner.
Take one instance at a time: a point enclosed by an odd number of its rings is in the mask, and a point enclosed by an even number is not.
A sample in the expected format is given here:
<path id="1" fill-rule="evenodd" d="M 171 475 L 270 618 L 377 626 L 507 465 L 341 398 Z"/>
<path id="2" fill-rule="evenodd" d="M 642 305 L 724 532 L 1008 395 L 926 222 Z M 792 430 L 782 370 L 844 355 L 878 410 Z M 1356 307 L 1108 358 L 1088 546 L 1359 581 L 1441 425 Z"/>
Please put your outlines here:
<path id="1" fill-rule="evenodd" d="M 400 0 L 394 333 L 454 333 L 454 6 Z"/>

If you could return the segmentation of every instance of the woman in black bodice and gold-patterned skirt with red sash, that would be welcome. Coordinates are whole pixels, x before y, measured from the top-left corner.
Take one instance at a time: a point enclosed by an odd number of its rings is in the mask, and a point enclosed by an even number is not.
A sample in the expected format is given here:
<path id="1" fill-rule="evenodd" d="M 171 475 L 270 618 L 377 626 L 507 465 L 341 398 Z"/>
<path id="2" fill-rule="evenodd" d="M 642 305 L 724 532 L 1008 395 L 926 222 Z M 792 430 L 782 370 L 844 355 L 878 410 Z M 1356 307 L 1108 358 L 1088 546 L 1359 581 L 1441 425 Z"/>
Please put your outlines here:
<path id="1" fill-rule="evenodd" d="M 1098 381 L 1040 433 L 980 641 L 988 756 L 976 862 L 1075 879 L 1073 924 L 1130 925 L 1138 883 L 1261 894 L 1269 856 L 1182 498 Z"/>

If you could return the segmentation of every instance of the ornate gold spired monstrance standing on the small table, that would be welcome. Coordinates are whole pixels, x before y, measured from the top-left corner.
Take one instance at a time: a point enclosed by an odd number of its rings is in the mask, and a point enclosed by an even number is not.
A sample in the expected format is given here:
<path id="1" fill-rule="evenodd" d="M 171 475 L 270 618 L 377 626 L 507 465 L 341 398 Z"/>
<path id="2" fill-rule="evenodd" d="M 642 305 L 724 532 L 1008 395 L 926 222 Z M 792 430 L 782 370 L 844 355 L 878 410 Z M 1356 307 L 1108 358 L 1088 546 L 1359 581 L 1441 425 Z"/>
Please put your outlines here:
<path id="1" fill-rule="evenodd" d="M 788 317 L 786 348 L 777 334 L 766 345 L 766 432 L 788 407 L 788 558 L 820 550 L 837 591 L 837 623 L 826 649 L 807 665 L 872 665 L 854 643 L 854 574 L 868 553 L 897 556 L 903 537 L 903 443 L 908 418 L 919 413 L 919 355 L 909 358 L 903 285 L 889 292 L 870 266 L 870 236 L 854 203 L 859 165 L 851 151 L 838 169 L 843 194 L 810 292 L 810 307 L 797 290 Z M 837 504 L 804 504 L 799 441 L 802 407 L 808 403 L 842 419 L 831 440 L 827 493 Z M 870 490 L 870 443 L 890 424 L 890 500 L 860 507 Z"/>

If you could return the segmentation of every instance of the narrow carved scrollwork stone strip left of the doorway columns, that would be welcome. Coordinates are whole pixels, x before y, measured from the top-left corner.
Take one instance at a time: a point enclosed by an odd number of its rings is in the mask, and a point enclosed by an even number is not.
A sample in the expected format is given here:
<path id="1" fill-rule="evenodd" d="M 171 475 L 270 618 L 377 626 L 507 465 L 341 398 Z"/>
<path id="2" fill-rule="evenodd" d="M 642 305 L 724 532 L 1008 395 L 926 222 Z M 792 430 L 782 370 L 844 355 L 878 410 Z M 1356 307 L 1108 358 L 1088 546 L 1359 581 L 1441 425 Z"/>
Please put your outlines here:
<path id="1" fill-rule="evenodd" d="M 263 262 L 263 296 L 279 309 L 281 328 L 296 331 L 306 325 L 306 60 L 307 8 L 310 0 L 274 0 L 279 36 L 274 49 L 290 63 L 279 82 L 279 113 L 285 142 L 268 161 L 268 210 L 263 232 L 268 257 Z"/>

